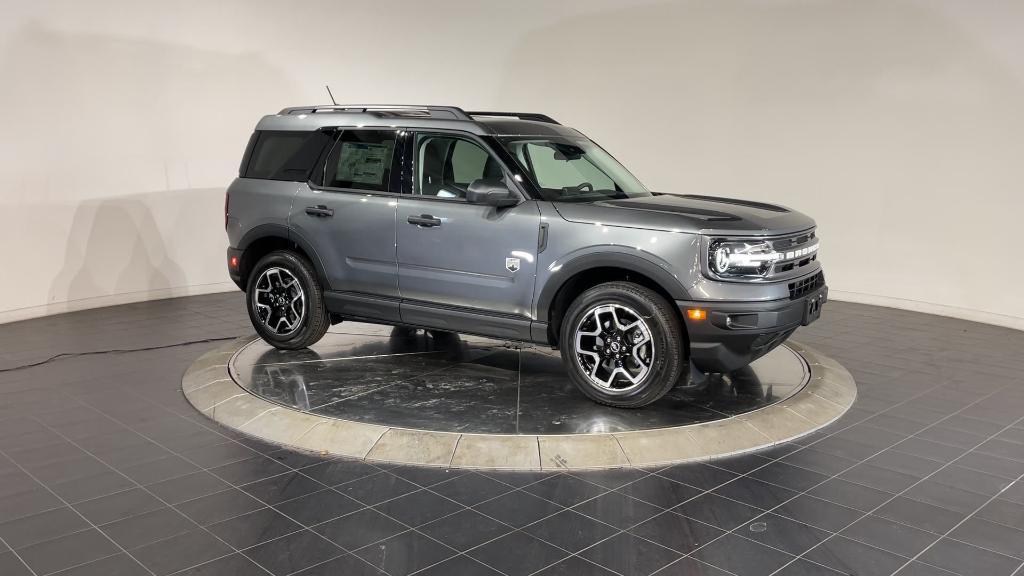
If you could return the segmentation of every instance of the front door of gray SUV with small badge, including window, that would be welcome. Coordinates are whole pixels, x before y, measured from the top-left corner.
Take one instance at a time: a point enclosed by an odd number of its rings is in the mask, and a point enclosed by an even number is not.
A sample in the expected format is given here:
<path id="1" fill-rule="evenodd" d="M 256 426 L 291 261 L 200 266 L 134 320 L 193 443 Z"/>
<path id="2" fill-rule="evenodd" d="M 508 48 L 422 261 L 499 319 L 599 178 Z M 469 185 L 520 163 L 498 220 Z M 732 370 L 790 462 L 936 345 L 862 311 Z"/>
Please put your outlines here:
<path id="1" fill-rule="evenodd" d="M 476 179 L 509 181 L 469 135 L 412 134 L 412 194 L 398 200 L 398 290 L 408 324 L 528 339 L 537 240 L 536 202 L 470 204 Z"/>

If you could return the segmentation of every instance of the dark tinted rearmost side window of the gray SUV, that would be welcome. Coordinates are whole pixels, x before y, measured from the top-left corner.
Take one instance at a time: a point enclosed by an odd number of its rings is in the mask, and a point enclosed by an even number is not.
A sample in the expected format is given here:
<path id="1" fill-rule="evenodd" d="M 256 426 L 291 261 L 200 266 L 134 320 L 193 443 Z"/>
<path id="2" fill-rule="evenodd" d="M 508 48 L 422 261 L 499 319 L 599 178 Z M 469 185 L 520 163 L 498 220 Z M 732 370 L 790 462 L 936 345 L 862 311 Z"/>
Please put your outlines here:
<path id="1" fill-rule="evenodd" d="M 244 177 L 306 181 L 331 134 L 262 130 L 254 138 Z"/>

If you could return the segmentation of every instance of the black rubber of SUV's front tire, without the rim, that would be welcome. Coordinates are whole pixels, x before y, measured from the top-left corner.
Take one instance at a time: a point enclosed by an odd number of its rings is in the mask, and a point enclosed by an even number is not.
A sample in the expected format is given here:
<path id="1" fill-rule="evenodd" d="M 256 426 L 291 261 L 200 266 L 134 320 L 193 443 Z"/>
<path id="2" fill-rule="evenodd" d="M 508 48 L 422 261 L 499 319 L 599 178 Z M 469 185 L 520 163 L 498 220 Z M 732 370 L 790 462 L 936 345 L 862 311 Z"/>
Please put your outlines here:
<path id="1" fill-rule="evenodd" d="M 645 294 L 649 291 L 639 286 L 636 288 L 638 290 L 634 292 L 623 289 L 617 283 L 595 286 L 569 304 L 562 320 L 560 347 L 569 376 L 584 394 L 602 404 L 624 408 L 645 406 L 664 396 L 675 384 L 681 371 L 684 354 L 681 338 L 678 335 L 672 337 L 673 330 L 676 334 L 681 333 L 678 321 L 673 322 L 676 319 L 671 316 L 672 311 L 664 310 L 665 306 L 659 306 L 659 302 L 653 299 L 664 298 L 653 292 Z M 604 304 L 618 304 L 635 312 L 647 323 L 653 341 L 654 362 L 649 372 L 639 385 L 626 392 L 609 390 L 592 383 L 575 354 L 577 327 L 586 313 Z M 666 385 L 667 378 L 672 380 L 671 384 Z"/>

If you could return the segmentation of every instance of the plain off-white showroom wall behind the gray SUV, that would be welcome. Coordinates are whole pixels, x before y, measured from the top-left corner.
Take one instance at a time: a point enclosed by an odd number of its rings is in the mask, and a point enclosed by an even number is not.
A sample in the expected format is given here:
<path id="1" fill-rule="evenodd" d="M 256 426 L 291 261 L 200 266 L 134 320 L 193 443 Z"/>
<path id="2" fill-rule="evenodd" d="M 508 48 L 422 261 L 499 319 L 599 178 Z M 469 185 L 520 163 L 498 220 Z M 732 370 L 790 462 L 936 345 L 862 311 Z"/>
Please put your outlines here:
<path id="1" fill-rule="evenodd" d="M 0 322 L 228 289 L 256 120 L 529 110 L 815 218 L 834 295 L 1024 328 L 1024 4 L 0 0 Z"/>

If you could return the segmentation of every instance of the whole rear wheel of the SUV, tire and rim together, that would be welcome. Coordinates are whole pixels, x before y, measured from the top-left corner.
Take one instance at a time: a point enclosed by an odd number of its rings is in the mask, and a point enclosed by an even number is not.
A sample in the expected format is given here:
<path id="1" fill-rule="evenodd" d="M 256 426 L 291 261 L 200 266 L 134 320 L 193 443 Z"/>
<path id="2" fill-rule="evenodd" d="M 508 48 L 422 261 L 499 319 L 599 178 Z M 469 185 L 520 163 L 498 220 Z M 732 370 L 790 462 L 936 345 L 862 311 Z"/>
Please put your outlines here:
<path id="1" fill-rule="evenodd" d="M 279 349 L 309 347 L 331 326 L 312 265 L 285 250 L 256 262 L 246 286 L 246 307 L 256 332 Z"/>

